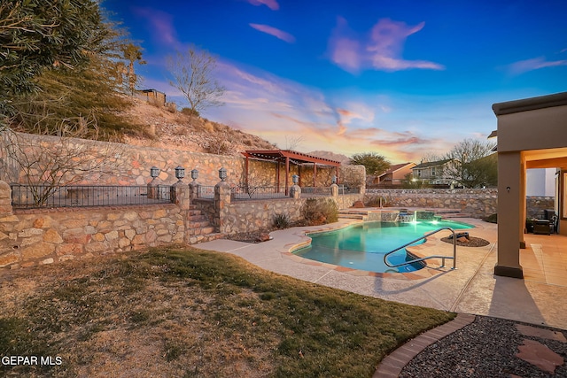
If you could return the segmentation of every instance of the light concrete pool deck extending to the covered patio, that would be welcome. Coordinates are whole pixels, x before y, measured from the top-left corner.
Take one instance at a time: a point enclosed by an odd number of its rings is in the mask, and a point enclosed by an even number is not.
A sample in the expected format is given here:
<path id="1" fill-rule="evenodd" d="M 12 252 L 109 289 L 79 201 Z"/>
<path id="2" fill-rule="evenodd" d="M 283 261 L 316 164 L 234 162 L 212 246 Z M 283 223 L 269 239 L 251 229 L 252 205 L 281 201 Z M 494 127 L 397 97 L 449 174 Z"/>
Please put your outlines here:
<path id="1" fill-rule="evenodd" d="M 525 235 L 527 248 L 520 252 L 524 280 L 518 280 L 493 274 L 498 248 L 496 225 L 470 218 L 459 221 L 475 226 L 467 230 L 469 234 L 490 244 L 458 246 L 455 270 L 451 269 L 452 260 L 447 260 L 447 267 L 431 260 L 427 267 L 411 274 L 369 274 L 290 253 L 294 246 L 309 242 L 306 232 L 342 228 L 360 220 L 340 219 L 323 227 L 274 231 L 270 234 L 273 239 L 264 243 L 221 239 L 196 247 L 232 253 L 278 274 L 369 297 L 567 329 L 567 236 Z M 453 245 L 440 241 L 447 235 L 449 231 L 431 236 L 418 246 L 419 252 L 452 256 Z"/>

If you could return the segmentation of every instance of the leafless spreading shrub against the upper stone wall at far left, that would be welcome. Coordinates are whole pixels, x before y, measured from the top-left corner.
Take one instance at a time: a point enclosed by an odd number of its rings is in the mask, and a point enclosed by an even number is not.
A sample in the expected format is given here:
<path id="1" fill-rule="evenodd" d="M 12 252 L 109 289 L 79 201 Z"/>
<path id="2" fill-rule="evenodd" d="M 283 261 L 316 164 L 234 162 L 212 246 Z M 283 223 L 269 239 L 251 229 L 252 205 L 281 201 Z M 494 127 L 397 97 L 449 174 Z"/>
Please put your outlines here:
<path id="1" fill-rule="evenodd" d="M 78 125 L 78 126 L 77 126 Z M 39 126 L 38 126 L 39 128 Z M 118 143 L 82 139 L 97 130 L 96 120 L 61 121 L 57 136 L 21 134 L 11 128 L 1 131 L 10 164 L 17 168 L 34 203 L 43 205 L 61 186 L 116 172 L 123 148 Z M 19 181 L 17 178 L 16 181 Z"/>

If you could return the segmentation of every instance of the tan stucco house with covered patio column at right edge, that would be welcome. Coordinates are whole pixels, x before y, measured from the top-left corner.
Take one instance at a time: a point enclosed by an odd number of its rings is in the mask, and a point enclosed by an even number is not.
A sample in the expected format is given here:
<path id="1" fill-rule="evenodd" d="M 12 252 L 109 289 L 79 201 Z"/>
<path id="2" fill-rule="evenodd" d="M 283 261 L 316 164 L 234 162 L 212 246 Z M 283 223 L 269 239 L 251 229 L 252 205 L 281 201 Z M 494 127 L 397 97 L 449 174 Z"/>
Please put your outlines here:
<path id="1" fill-rule="evenodd" d="M 523 278 L 527 169 L 555 168 L 559 234 L 567 235 L 567 92 L 493 104 L 498 128 L 498 261 L 494 274 Z M 493 133 L 494 134 L 494 133 Z"/>

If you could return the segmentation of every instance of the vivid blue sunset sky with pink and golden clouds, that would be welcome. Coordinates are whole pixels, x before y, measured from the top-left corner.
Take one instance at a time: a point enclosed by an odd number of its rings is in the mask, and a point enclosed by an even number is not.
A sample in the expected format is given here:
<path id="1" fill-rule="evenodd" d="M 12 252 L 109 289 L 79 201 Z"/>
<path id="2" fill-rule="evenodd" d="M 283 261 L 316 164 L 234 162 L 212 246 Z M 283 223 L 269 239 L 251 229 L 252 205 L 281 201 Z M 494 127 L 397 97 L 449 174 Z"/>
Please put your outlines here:
<path id="1" fill-rule="evenodd" d="M 492 104 L 567 90 L 565 0 L 105 0 L 143 87 L 183 104 L 167 56 L 217 58 L 203 116 L 281 148 L 418 163 L 496 129 Z"/>

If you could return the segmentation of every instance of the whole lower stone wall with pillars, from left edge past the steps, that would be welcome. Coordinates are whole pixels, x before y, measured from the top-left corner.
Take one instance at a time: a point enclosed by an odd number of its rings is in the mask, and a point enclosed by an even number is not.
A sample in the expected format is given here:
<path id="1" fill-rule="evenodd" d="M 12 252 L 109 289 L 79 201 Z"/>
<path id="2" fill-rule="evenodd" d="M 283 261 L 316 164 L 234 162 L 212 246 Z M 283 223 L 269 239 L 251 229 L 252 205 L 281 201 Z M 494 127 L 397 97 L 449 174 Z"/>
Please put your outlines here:
<path id="1" fill-rule="evenodd" d="M 176 183 L 174 204 L 59 209 L 12 209 L 10 186 L 0 181 L 0 267 L 52 264 L 108 252 L 190 243 L 190 203 L 217 232 L 236 234 L 272 226 L 278 213 L 301 220 L 307 198 L 231 201 L 220 182 L 214 200 L 191 199 L 188 185 Z M 336 190 L 335 190 L 336 191 Z M 362 195 L 335 196 L 339 207 Z"/>

